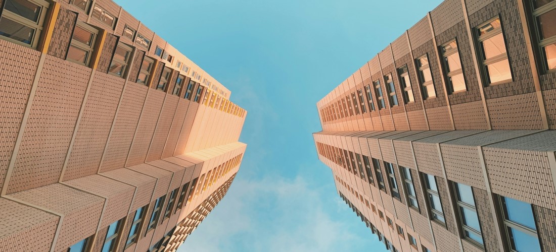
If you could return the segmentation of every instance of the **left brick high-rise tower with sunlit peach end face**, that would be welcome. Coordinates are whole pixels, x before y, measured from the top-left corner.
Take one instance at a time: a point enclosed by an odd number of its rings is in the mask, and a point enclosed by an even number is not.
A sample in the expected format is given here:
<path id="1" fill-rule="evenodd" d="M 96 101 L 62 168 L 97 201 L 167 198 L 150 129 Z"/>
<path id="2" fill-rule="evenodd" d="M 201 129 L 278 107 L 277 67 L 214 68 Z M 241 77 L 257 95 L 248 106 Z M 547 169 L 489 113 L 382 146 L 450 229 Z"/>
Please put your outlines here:
<path id="1" fill-rule="evenodd" d="M 0 251 L 175 251 L 230 187 L 246 111 L 110 0 L 0 7 Z"/>

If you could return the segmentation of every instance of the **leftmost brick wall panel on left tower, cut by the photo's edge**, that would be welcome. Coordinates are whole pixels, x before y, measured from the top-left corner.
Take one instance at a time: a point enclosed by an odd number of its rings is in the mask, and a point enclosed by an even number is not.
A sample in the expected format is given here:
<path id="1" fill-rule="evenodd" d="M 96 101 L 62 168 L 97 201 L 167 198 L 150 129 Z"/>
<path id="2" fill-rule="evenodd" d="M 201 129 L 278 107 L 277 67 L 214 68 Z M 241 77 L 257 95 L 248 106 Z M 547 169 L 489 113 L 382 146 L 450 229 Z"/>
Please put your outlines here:
<path id="1" fill-rule="evenodd" d="M 0 40 L 0 188 L 12 157 L 38 60 L 37 51 Z"/>

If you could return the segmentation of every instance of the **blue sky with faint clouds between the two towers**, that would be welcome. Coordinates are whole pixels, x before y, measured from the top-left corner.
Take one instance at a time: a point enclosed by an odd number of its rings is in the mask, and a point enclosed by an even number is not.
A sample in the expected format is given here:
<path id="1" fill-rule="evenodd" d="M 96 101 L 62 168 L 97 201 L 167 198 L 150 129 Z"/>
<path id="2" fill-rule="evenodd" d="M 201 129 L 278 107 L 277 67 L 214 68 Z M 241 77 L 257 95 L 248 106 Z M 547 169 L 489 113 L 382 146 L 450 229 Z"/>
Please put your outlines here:
<path id="1" fill-rule="evenodd" d="M 248 112 L 234 183 L 178 251 L 386 251 L 317 158 L 316 102 L 440 0 L 115 2 Z"/>

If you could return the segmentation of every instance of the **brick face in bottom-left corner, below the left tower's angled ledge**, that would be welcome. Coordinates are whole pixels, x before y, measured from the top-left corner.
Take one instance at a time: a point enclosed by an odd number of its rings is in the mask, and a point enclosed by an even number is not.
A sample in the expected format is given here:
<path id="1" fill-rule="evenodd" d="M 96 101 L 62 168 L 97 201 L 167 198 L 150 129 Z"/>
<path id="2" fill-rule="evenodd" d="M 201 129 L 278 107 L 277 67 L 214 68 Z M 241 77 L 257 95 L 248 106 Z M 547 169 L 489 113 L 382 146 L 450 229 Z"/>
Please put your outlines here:
<path id="1" fill-rule="evenodd" d="M 48 251 L 59 217 L 12 200 L 0 198 L 0 250 Z M 6 225 L 17 223 L 18 225 Z M 33 242 L 22 242 L 33 240 Z"/>

